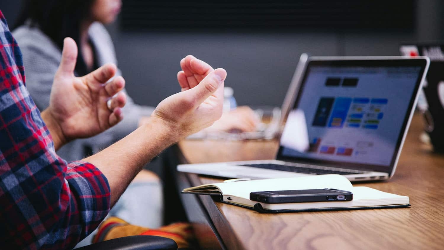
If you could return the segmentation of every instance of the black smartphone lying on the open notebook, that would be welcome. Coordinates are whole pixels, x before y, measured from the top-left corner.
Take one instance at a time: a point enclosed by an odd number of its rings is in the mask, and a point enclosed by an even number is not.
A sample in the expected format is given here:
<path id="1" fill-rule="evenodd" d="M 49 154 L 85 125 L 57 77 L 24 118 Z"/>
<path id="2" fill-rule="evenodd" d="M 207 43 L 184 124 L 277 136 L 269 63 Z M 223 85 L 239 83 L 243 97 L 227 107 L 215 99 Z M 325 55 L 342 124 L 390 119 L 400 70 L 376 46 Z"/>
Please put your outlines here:
<path id="1" fill-rule="evenodd" d="M 262 191 L 251 192 L 250 200 L 264 203 L 350 201 L 353 193 L 333 188 Z"/>

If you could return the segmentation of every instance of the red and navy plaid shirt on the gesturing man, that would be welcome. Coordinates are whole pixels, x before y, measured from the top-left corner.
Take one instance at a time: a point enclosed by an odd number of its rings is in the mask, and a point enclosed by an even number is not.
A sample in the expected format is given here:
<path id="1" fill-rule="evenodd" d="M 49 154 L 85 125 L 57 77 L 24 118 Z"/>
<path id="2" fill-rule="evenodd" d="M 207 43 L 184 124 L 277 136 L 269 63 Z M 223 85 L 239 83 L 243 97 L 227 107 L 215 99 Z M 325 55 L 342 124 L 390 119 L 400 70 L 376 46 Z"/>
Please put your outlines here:
<path id="1" fill-rule="evenodd" d="M 91 163 L 56 154 L 1 11 L 0 19 L 0 248 L 72 248 L 107 215 L 110 187 Z"/>

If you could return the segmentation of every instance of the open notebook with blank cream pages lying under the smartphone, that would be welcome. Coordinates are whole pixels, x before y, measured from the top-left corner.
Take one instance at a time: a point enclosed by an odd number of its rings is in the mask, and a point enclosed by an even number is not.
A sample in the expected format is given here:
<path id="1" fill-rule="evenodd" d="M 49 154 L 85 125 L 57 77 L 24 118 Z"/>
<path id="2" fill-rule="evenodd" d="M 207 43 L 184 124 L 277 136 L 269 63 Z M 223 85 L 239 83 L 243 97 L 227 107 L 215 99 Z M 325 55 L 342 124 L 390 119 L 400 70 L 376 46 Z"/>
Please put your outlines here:
<path id="1" fill-rule="evenodd" d="M 298 202 L 268 204 L 250 200 L 250 192 L 335 188 L 353 193 L 351 201 Z M 351 210 L 410 206 L 408 196 L 390 194 L 370 187 L 353 187 L 342 175 L 315 175 L 296 178 L 261 179 L 205 184 L 182 190 L 182 193 L 218 195 L 221 201 L 254 208 L 259 212 L 296 212 L 315 210 Z"/>

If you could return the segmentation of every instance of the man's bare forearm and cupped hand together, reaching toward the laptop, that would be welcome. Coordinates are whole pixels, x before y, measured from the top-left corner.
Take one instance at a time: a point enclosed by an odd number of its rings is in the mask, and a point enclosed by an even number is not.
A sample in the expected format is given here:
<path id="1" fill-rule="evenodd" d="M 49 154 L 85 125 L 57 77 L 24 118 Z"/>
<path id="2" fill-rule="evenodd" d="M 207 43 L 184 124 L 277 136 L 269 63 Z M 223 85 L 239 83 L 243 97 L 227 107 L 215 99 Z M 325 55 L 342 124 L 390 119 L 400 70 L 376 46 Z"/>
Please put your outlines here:
<path id="1" fill-rule="evenodd" d="M 85 161 L 107 177 L 114 204 L 142 167 L 166 147 L 210 126 L 222 115 L 226 71 L 187 56 L 178 73 L 182 92 L 167 97 L 131 134 Z M 183 64 L 183 65 L 182 65 Z"/>

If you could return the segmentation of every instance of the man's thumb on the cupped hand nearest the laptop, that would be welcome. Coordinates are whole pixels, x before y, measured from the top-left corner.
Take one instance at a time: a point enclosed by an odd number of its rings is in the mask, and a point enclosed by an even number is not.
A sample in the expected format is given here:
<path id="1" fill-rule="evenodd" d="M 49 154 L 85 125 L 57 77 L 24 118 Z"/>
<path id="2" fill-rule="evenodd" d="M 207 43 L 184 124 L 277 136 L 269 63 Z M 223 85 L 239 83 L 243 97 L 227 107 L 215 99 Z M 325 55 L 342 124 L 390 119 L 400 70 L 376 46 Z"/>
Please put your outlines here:
<path id="1" fill-rule="evenodd" d="M 226 78 L 226 71 L 223 68 L 217 68 L 206 75 L 204 79 L 196 86 L 188 90 L 194 95 L 195 105 L 203 103 L 210 95 L 214 95 Z M 221 96 L 223 98 L 223 95 Z"/>

